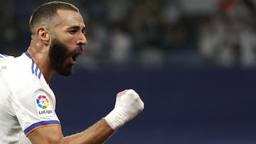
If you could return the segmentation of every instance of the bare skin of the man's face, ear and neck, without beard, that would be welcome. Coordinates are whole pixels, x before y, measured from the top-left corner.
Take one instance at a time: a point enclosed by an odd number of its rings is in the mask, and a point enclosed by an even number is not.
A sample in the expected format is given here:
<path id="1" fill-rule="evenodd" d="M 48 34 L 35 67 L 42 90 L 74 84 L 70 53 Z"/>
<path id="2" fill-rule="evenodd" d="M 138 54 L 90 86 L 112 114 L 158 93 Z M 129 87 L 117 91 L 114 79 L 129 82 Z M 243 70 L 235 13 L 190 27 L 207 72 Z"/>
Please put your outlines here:
<path id="1" fill-rule="evenodd" d="M 36 34 L 32 35 L 31 45 L 28 52 L 31 53 L 36 65 L 40 68 L 47 82 L 55 73 L 55 70 L 50 65 L 48 52 L 53 38 L 58 38 L 61 42 L 65 43 L 68 51 L 76 51 L 74 54 L 80 54 L 81 45 L 86 45 L 87 40 L 84 35 L 85 24 L 82 20 L 80 13 L 75 11 L 59 10 L 60 18 L 53 20 L 53 26 L 40 26 L 36 30 Z M 68 57 L 63 65 L 72 63 L 72 56 Z"/>

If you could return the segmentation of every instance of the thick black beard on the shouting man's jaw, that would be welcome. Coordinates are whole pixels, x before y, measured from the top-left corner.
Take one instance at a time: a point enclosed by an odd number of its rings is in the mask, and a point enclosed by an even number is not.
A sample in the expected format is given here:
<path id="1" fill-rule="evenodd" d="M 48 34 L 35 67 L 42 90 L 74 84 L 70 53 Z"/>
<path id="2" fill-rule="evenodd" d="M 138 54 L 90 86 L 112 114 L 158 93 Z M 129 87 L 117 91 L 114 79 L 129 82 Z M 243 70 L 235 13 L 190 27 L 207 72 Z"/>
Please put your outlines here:
<path id="1" fill-rule="evenodd" d="M 61 76 L 68 77 L 73 74 L 73 65 L 68 63 L 65 65 L 65 60 L 70 57 L 68 47 L 57 38 L 54 38 L 50 45 L 49 59 L 50 65 L 56 73 Z"/>

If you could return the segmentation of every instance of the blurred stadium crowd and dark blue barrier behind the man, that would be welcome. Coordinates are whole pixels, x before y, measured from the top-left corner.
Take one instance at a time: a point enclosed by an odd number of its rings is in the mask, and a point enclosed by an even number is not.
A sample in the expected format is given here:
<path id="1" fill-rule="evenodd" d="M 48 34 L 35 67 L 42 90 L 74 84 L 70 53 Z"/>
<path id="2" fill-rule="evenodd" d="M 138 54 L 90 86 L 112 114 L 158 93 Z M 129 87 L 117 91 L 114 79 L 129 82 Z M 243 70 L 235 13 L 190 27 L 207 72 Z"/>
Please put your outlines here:
<path id="1" fill-rule="evenodd" d="M 0 53 L 21 55 L 47 1 L 3 0 Z M 133 88 L 145 110 L 106 143 L 256 143 L 255 0 L 85 0 L 88 44 L 72 77 L 50 82 L 64 135 Z"/>

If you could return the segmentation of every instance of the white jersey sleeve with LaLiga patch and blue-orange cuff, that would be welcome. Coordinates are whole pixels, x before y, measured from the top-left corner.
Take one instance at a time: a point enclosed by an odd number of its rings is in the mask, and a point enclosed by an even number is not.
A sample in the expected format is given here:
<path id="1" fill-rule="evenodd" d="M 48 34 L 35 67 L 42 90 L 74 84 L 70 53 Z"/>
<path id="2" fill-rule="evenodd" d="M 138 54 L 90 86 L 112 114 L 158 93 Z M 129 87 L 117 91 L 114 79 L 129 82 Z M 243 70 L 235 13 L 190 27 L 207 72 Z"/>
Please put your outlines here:
<path id="1" fill-rule="evenodd" d="M 55 96 L 44 90 L 14 96 L 12 107 L 26 136 L 38 128 L 60 125 L 55 113 Z"/>

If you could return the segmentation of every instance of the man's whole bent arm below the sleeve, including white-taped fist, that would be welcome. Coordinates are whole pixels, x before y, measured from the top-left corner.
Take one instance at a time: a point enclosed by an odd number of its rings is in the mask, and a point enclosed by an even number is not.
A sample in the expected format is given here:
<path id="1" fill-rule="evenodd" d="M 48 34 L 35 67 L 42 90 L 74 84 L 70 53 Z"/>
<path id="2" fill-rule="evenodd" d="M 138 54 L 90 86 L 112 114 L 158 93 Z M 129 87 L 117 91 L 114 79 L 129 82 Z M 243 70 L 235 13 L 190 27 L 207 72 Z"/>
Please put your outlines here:
<path id="1" fill-rule="evenodd" d="M 124 123 L 132 120 L 144 109 L 144 103 L 134 90 L 124 90 L 117 94 L 114 109 L 105 118 L 97 121 L 87 130 L 63 137 L 60 125 L 38 128 L 28 135 L 33 144 L 97 144 L 103 143 Z"/>

